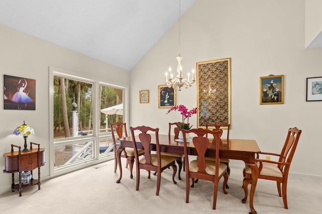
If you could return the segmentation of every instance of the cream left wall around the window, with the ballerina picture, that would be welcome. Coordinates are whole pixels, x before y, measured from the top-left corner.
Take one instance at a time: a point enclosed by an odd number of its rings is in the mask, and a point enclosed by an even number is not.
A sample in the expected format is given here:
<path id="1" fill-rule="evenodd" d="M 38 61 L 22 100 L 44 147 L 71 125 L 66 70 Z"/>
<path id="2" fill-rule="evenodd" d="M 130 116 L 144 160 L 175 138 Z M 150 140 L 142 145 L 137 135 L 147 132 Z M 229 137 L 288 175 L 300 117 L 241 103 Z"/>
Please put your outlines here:
<path id="1" fill-rule="evenodd" d="M 36 111 L 4 110 L 3 99 L 0 99 L 0 154 L 10 152 L 11 144 L 23 146 L 23 138 L 13 135 L 13 131 L 26 121 L 35 130 L 35 135 L 28 138 L 28 147 L 33 141 L 46 149 L 46 165 L 41 167 L 42 178 L 48 177 L 50 172 L 48 94 L 49 81 L 52 80 L 49 80 L 49 66 L 94 80 L 129 86 L 129 73 L 123 69 L 0 25 L 0 85 L 3 87 L 4 74 L 36 79 Z M 0 169 L 4 168 L 3 158 Z M 0 173 L 0 181 L 0 193 L 11 189 L 11 174 Z"/>

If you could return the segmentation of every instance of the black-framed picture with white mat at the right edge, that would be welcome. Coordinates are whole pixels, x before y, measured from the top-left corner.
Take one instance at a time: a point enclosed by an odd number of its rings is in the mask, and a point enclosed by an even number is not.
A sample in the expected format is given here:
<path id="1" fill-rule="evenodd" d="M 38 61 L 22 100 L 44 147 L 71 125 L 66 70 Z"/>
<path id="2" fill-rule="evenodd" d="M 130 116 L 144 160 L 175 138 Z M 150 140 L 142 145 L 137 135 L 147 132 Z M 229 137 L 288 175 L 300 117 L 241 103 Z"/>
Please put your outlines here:
<path id="1" fill-rule="evenodd" d="M 322 100 L 322 77 L 306 78 L 306 101 Z"/>

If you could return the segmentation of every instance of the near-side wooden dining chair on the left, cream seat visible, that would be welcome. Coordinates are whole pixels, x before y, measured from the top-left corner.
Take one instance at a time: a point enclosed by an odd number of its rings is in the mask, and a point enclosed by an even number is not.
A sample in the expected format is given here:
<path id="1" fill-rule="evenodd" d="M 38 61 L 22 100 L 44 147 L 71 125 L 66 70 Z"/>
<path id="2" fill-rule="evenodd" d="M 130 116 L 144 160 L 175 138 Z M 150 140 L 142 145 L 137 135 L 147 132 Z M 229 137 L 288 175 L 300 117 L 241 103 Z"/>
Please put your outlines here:
<path id="1" fill-rule="evenodd" d="M 136 190 L 139 190 L 140 184 L 140 169 L 145 169 L 148 171 L 147 178 L 150 179 L 150 171 L 155 171 L 157 173 L 157 181 L 156 181 L 156 195 L 159 195 L 160 190 L 160 182 L 161 182 L 161 173 L 172 166 L 173 168 L 173 175 L 172 180 L 174 184 L 177 182 L 175 181 L 175 176 L 177 173 L 177 165 L 176 159 L 171 156 L 161 155 L 160 153 L 160 145 L 159 145 L 159 136 L 158 131 L 159 129 L 152 129 L 151 127 L 146 126 L 138 126 L 138 127 L 130 127 L 132 141 L 133 141 L 133 148 L 134 148 L 134 156 L 135 156 L 135 166 L 136 166 Z M 139 135 L 138 137 L 134 135 L 134 131 L 138 130 Z M 151 135 L 147 132 L 151 132 L 155 134 L 155 147 L 156 147 L 156 154 L 151 154 L 152 144 L 151 144 Z M 136 143 L 136 138 L 139 139 L 140 143 Z M 144 150 L 144 156 L 139 159 L 139 152 L 138 148 L 142 148 Z"/>

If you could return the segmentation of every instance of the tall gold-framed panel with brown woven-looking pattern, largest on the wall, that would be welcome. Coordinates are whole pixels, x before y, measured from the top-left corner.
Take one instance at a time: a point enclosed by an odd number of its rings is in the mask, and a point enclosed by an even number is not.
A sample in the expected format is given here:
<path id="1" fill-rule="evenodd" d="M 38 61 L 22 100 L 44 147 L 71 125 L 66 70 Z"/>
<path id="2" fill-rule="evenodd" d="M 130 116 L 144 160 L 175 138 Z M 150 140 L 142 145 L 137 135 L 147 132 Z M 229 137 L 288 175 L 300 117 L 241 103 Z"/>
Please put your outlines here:
<path id="1" fill-rule="evenodd" d="M 197 62 L 197 126 L 230 124 L 230 58 Z"/>

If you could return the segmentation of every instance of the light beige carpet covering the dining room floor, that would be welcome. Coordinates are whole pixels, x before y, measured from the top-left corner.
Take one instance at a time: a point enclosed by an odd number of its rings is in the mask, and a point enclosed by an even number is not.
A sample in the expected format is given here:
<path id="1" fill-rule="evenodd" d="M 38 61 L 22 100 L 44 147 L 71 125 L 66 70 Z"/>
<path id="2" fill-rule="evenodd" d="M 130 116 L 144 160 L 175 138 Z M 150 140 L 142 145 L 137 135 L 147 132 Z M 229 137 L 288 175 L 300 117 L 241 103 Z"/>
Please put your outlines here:
<path id="1" fill-rule="evenodd" d="M 241 203 L 244 190 L 242 169 L 231 167 L 228 194 L 219 185 L 216 210 L 212 209 L 213 183 L 199 180 L 190 188 L 190 201 L 186 203 L 185 172 L 182 180 L 176 176 L 172 182 L 172 169 L 162 173 L 159 196 L 156 192 L 156 176 L 147 179 L 141 170 L 140 189 L 135 190 L 136 174 L 129 178 L 123 160 L 123 178 L 116 183 L 119 173 L 114 173 L 114 161 L 78 170 L 53 179 L 42 181 L 37 186 L 0 195 L 0 213 L 248 213 L 249 200 Z M 289 176 L 288 209 L 277 195 L 276 182 L 259 180 L 254 197 L 258 213 L 321 213 L 322 179 Z"/>

